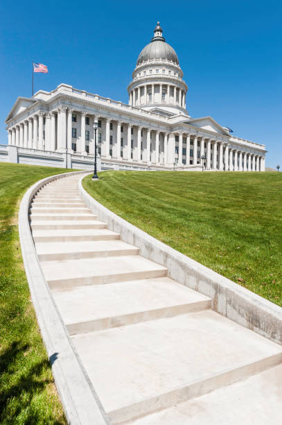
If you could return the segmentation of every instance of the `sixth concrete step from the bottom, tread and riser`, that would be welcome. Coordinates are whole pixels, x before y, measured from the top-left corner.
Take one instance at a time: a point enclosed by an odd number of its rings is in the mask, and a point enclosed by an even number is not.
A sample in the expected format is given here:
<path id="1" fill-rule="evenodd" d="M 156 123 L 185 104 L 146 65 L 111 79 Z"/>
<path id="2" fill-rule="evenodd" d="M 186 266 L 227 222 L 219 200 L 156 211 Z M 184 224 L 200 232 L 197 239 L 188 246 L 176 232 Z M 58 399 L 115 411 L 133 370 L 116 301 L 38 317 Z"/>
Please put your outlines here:
<path id="1" fill-rule="evenodd" d="M 34 242 L 81 242 L 85 240 L 117 240 L 119 233 L 107 228 L 97 229 L 58 229 L 33 231 Z"/>

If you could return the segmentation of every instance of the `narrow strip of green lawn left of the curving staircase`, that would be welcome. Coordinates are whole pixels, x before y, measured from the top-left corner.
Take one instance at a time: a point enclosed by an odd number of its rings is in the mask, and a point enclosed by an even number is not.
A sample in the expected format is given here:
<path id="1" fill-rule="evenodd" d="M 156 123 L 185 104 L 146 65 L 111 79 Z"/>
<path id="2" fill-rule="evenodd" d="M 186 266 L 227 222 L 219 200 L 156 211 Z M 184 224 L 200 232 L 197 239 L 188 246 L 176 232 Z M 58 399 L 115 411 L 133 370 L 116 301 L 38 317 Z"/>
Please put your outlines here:
<path id="1" fill-rule="evenodd" d="M 28 187 L 66 171 L 0 163 L 1 424 L 66 424 L 30 300 L 17 228 Z"/>

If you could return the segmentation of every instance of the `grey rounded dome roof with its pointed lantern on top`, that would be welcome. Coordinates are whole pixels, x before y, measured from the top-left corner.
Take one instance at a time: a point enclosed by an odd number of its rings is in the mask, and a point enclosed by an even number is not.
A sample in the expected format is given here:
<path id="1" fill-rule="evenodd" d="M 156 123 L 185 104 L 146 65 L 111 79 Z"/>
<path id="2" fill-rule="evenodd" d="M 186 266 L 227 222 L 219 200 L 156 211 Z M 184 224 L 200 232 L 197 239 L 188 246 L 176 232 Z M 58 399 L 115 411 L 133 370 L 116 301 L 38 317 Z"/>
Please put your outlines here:
<path id="1" fill-rule="evenodd" d="M 141 65 L 141 63 L 152 59 L 170 60 L 179 65 L 175 49 L 173 49 L 170 44 L 166 43 L 162 36 L 162 29 L 159 26 L 159 22 L 157 23 L 154 33 L 155 35 L 151 42 L 141 50 L 136 65 Z"/>

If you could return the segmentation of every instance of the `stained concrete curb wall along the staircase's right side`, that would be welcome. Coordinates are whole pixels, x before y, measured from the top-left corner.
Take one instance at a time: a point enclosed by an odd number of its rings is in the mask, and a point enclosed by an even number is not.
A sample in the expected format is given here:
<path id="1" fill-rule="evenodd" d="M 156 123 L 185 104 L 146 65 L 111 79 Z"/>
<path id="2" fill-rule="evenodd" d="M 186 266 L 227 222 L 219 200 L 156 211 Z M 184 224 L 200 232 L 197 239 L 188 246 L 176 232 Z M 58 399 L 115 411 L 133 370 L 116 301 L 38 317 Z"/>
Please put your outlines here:
<path id="1" fill-rule="evenodd" d="M 100 221 L 107 223 L 110 230 L 121 233 L 124 242 L 139 247 L 141 256 L 167 267 L 168 276 L 175 281 L 211 297 L 212 308 L 216 312 L 282 345 L 281 307 L 184 256 L 118 217 L 85 191 L 82 178 L 78 182 L 78 190 L 83 201 L 98 215 Z M 98 181 L 96 184 L 99 184 Z"/>

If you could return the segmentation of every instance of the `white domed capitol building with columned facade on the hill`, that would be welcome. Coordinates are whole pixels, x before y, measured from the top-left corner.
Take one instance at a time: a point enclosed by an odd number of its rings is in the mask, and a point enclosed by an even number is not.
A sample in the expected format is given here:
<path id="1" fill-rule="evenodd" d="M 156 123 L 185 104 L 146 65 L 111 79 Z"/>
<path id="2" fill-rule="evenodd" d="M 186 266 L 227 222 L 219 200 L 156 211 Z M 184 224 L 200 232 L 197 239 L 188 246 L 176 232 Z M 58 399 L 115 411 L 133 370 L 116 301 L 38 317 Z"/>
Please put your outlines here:
<path id="1" fill-rule="evenodd" d="M 20 163 L 89 168 L 98 122 L 102 169 L 265 171 L 265 145 L 234 137 L 212 117 L 191 117 L 187 90 L 158 22 L 138 56 L 128 104 L 67 84 L 19 97 L 6 119 L 7 155 Z"/>

